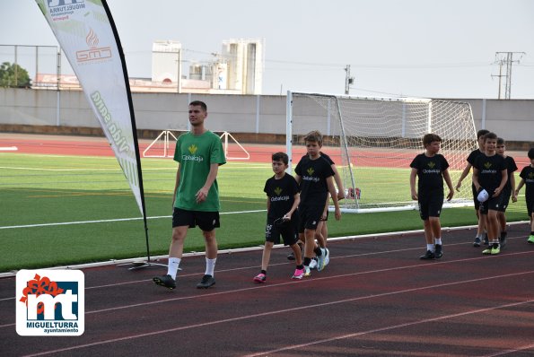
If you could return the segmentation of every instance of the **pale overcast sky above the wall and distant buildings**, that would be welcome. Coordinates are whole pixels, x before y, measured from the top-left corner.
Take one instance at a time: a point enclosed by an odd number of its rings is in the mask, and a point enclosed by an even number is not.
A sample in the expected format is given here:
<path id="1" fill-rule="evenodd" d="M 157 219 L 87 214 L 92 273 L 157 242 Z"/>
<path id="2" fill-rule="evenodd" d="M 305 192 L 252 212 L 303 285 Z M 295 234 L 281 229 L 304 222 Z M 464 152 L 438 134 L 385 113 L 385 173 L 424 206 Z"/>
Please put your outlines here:
<path id="1" fill-rule="evenodd" d="M 345 67 L 351 65 L 355 83 L 350 94 L 355 96 L 495 99 L 499 84 L 495 52 L 512 51 L 526 53 L 513 55 L 520 62 L 512 64 L 512 99 L 534 99 L 531 0 L 108 0 L 108 4 L 130 77 L 151 76 L 156 39 L 181 42 L 187 61 L 208 61 L 211 53 L 221 51 L 224 39 L 259 38 L 265 40 L 263 94 L 287 90 L 342 94 Z M 57 46 L 34 0 L 0 0 L 0 8 L 0 45 Z M 0 61 L 13 62 L 6 50 L 0 47 Z M 504 70 L 505 66 L 503 74 Z"/>

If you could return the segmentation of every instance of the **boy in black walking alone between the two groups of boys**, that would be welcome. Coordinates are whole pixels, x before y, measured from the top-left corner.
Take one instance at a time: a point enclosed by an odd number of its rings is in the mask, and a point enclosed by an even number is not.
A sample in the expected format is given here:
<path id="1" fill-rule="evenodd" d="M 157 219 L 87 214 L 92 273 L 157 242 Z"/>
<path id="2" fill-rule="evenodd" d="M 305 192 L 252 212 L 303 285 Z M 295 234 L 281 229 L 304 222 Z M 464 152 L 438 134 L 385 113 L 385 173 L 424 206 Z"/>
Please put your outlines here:
<path id="1" fill-rule="evenodd" d="M 426 253 L 421 259 L 440 258 L 442 250 L 442 225 L 440 213 L 443 205 L 443 179 L 449 187 L 447 200 L 454 196 L 451 176 L 449 175 L 449 162 L 438 153 L 442 138 L 435 134 L 423 136 L 425 152 L 420 153 L 410 164 L 410 189 L 412 199 L 419 204 L 419 215 L 423 220 L 425 229 Z M 416 177 L 418 178 L 416 189 Z"/>

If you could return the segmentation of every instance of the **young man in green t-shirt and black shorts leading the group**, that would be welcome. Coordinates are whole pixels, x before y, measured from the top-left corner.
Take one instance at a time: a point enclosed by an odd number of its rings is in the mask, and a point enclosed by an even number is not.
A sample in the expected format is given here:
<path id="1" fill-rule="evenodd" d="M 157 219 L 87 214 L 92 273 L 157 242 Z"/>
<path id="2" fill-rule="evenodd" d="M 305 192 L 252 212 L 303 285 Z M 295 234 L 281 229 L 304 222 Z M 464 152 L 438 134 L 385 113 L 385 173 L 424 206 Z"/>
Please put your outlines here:
<path id="1" fill-rule="evenodd" d="M 219 223 L 219 188 L 217 173 L 226 163 L 221 138 L 206 129 L 206 103 L 189 103 L 191 130 L 180 135 L 176 143 L 174 161 L 179 163 L 172 200 L 172 238 L 169 266 L 166 275 L 156 276 L 153 282 L 169 289 L 176 288 L 176 274 L 181 261 L 184 241 L 189 228 L 198 226 L 206 243 L 206 273 L 197 288 L 214 285 L 214 266 L 217 259 L 215 228 Z"/>

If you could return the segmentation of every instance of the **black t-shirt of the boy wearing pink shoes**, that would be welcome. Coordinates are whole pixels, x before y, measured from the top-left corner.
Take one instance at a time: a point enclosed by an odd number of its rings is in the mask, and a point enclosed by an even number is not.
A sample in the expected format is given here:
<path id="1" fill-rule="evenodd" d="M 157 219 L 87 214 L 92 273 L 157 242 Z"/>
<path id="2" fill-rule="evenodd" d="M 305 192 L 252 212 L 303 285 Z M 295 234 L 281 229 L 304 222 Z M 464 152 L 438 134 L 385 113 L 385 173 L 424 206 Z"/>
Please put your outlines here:
<path id="1" fill-rule="evenodd" d="M 265 182 L 263 192 L 271 201 L 267 219 L 276 220 L 288 213 L 293 207 L 294 196 L 299 192 L 299 185 L 291 175 L 285 174 L 281 179 L 276 179 L 273 176 Z"/>

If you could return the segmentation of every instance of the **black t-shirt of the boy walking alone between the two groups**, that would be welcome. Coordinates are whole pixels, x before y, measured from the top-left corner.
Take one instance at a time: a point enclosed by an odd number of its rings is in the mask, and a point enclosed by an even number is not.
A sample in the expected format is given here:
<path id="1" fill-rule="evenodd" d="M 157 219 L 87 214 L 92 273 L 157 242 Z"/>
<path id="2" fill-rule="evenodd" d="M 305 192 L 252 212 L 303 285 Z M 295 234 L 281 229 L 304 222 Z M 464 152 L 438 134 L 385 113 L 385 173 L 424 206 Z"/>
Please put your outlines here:
<path id="1" fill-rule="evenodd" d="M 443 171 L 449 168 L 449 162 L 441 153 L 431 157 L 420 153 L 410 163 L 410 167 L 417 170 L 419 195 L 428 191 L 443 191 Z"/>

